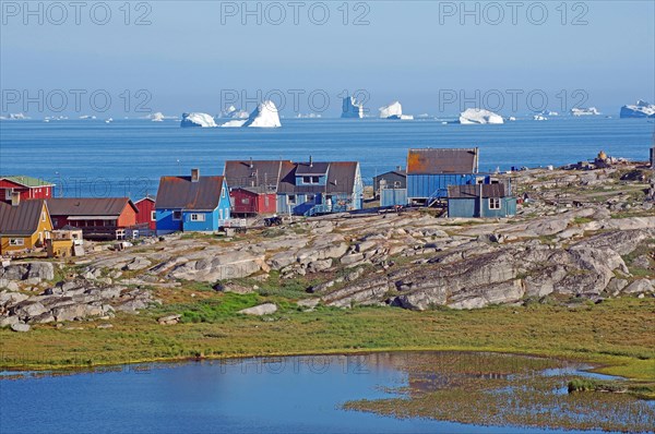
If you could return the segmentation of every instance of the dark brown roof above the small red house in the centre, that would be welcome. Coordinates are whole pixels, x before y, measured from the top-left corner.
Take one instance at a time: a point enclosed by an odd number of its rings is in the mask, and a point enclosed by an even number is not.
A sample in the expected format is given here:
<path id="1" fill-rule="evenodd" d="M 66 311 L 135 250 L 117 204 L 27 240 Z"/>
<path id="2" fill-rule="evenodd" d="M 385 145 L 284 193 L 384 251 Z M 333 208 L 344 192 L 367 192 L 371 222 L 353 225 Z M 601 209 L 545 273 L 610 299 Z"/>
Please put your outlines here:
<path id="1" fill-rule="evenodd" d="M 281 169 L 291 161 L 285 160 L 230 160 L 225 161 L 225 180 L 229 188 L 277 189 Z"/>

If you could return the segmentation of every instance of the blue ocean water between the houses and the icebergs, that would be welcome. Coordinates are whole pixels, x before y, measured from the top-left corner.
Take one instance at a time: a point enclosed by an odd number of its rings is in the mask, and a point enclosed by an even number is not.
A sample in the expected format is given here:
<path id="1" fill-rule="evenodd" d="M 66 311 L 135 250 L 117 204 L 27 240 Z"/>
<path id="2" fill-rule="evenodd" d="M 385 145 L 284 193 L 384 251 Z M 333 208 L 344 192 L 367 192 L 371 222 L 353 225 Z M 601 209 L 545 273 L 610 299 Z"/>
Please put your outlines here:
<path id="1" fill-rule="evenodd" d="M 480 148 L 480 170 L 564 165 L 608 155 L 646 160 L 650 119 L 551 118 L 502 125 L 438 120 L 283 119 L 281 129 L 181 129 L 177 121 L 2 121 L 0 173 L 58 184 L 66 196 L 154 194 L 165 174 L 221 174 L 227 159 L 358 160 L 366 183 L 405 166 L 409 147 Z"/>

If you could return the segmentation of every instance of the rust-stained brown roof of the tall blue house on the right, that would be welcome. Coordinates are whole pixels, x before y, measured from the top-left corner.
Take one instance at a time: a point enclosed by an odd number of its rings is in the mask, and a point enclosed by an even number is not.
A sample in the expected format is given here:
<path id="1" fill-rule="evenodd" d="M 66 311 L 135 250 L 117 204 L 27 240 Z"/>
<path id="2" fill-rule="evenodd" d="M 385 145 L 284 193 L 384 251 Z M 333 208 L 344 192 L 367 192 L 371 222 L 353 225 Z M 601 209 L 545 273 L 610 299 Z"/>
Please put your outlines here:
<path id="1" fill-rule="evenodd" d="M 407 174 L 475 173 L 477 162 L 477 148 L 409 149 Z"/>

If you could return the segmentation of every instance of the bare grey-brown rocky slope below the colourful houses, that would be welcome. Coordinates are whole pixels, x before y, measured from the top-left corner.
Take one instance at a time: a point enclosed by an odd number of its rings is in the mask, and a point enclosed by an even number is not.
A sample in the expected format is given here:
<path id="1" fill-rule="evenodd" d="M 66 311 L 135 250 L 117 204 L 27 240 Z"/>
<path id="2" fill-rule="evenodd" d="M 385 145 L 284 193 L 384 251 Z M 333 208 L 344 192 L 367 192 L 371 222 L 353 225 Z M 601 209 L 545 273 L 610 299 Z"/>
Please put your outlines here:
<path id="1" fill-rule="evenodd" d="M 448 219 L 434 209 L 332 215 L 234 238 L 175 234 L 121 251 L 98 244 L 83 261 L 5 264 L 0 326 L 25 331 L 35 324 L 97 320 L 108 327 L 117 311 L 160 303 L 162 288 L 200 282 L 248 293 L 273 278 L 302 285 L 291 301 L 308 310 L 573 305 L 654 296 L 652 170 L 623 164 L 512 177 L 526 201 L 509 219 Z"/>

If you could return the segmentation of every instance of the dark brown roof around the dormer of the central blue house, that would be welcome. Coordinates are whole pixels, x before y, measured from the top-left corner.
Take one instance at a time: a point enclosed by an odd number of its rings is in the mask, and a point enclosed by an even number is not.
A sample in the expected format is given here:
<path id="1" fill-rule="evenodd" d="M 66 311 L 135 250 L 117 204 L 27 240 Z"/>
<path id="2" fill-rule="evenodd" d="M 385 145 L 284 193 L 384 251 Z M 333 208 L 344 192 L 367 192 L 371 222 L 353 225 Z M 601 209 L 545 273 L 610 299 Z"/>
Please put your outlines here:
<path id="1" fill-rule="evenodd" d="M 327 167 L 326 185 L 296 185 L 296 176 L 301 176 L 297 172 L 298 165 L 291 164 L 293 167 L 286 167 L 284 176 L 281 178 L 277 191 L 287 194 L 302 193 L 326 193 L 340 194 L 353 193 L 355 182 L 357 180 L 357 161 L 329 161 L 313 162 L 314 167 Z"/>

